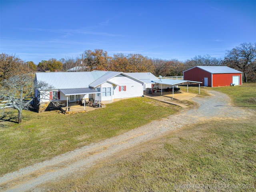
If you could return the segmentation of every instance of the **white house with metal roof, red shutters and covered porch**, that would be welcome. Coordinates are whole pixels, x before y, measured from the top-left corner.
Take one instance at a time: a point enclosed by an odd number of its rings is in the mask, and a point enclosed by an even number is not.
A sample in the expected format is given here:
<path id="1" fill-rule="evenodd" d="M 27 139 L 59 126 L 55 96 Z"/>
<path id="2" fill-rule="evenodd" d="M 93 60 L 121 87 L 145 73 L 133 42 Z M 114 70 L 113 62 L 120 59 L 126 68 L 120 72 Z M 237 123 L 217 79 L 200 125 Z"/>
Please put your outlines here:
<path id="1" fill-rule="evenodd" d="M 88 98 L 105 104 L 115 99 L 142 96 L 144 90 L 144 82 L 141 80 L 123 72 L 112 71 L 36 73 L 35 82 L 40 81 L 53 88 L 44 96 L 40 95 L 39 112 L 45 111 L 54 98 L 67 103 Z M 35 96 L 43 91 L 35 90 Z"/>

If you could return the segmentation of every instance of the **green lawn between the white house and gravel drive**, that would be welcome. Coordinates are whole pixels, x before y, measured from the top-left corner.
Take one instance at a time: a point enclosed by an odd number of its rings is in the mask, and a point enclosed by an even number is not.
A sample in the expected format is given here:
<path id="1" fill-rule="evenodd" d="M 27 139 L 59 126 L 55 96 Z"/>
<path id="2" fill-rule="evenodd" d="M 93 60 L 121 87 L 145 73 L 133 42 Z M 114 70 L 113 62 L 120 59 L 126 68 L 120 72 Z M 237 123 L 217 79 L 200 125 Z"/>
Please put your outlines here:
<path id="1" fill-rule="evenodd" d="M 23 111 L 0 118 L 0 175 L 50 159 L 92 142 L 116 136 L 148 122 L 170 116 L 180 107 L 148 98 L 132 98 L 80 114 Z M 157 113 L 156 113 L 157 111 Z"/>

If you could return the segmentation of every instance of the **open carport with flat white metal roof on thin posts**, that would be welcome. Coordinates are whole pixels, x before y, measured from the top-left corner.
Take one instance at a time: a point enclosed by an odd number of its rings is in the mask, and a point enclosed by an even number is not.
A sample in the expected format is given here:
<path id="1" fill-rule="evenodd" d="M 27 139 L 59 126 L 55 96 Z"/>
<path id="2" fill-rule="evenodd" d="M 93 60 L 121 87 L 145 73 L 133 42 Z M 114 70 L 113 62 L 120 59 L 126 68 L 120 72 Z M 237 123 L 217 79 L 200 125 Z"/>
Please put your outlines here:
<path id="1" fill-rule="evenodd" d="M 200 94 L 200 83 L 202 83 L 199 81 L 174 80 L 174 79 L 162 79 L 162 78 L 160 78 L 158 81 L 152 81 L 152 82 L 161 85 L 161 95 L 163 92 L 163 89 L 162 89 L 163 85 L 172 86 L 172 98 L 174 98 L 174 86 L 176 86 L 176 85 L 178 86 L 179 84 L 187 84 L 187 92 L 188 92 L 188 83 L 198 84 L 199 94 Z M 152 86 L 153 86 L 153 84 L 152 84 Z M 152 88 L 152 90 L 156 90 L 156 89 Z M 157 91 L 160 91 L 160 90 L 157 90 Z M 152 94 L 153 94 L 153 91 L 152 91 Z"/>

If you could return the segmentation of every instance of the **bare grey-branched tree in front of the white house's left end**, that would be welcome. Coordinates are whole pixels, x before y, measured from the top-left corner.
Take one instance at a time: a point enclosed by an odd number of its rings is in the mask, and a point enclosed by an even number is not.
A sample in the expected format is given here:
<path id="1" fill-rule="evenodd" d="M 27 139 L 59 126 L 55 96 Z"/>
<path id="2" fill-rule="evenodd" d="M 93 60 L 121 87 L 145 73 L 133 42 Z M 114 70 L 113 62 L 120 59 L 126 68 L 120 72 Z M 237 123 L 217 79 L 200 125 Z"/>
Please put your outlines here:
<path id="1" fill-rule="evenodd" d="M 8 80 L 2 82 L 0 90 L 0 98 L 6 100 L 6 105 L 12 105 L 18 110 L 18 123 L 22 122 L 22 110 L 30 108 L 31 103 L 34 99 L 33 94 L 35 89 L 44 88 L 44 92 L 40 94 L 47 94 L 47 90 L 52 89 L 45 82 L 34 83 L 34 78 L 28 74 L 21 74 L 12 76 Z M 39 96 L 39 95 L 38 95 Z M 4 112 L 4 106 L 2 110 Z"/>

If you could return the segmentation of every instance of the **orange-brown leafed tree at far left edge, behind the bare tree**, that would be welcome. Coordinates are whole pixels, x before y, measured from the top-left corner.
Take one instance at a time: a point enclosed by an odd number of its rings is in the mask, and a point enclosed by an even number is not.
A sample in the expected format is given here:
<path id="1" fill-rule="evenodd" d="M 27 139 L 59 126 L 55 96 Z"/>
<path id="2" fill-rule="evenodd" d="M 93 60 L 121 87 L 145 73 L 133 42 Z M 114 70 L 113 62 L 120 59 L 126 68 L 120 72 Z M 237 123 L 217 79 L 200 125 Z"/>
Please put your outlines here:
<path id="1" fill-rule="evenodd" d="M 0 81 L 27 72 L 29 72 L 29 69 L 20 58 L 5 53 L 0 55 Z"/>

